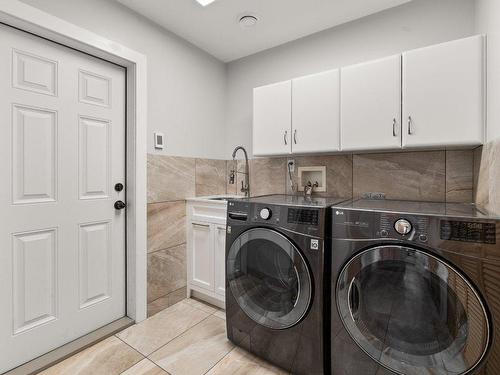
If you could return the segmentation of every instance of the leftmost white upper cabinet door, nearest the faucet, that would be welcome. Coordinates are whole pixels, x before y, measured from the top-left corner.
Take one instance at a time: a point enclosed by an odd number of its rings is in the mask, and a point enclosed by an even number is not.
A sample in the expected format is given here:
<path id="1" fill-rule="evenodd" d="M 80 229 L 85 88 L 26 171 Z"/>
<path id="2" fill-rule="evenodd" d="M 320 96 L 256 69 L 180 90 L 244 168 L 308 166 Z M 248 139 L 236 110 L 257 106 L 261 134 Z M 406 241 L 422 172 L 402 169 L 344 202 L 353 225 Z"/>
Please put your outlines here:
<path id="1" fill-rule="evenodd" d="M 254 155 L 284 155 L 291 152 L 291 95 L 291 81 L 254 89 Z"/>

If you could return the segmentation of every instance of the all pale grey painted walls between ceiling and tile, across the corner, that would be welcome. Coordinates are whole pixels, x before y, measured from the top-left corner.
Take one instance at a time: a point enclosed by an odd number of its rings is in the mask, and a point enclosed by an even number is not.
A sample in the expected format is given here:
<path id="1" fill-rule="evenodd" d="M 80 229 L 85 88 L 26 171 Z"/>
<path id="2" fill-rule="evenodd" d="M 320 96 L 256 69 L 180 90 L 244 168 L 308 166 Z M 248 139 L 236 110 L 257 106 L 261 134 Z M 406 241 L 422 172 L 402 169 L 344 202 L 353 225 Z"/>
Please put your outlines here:
<path id="1" fill-rule="evenodd" d="M 152 133 L 159 130 L 166 134 L 163 153 L 208 158 L 228 158 L 237 144 L 251 153 L 254 87 L 476 31 L 498 32 L 500 24 L 495 22 L 500 0 L 476 0 L 477 6 L 474 0 L 413 0 L 225 66 L 112 0 L 22 1 L 146 54 L 149 152 L 156 152 Z M 490 36 L 490 49 L 496 45 L 500 50 L 498 39 L 492 43 Z M 490 98 L 499 97 L 499 53 L 490 58 L 490 76 L 494 72 L 491 62 L 497 61 L 497 78 L 489 82 Z M 491 86 L 492 82 L 496 84 Z M 499 124 L 490 126 L 490 138 L 498 137 L 500 113 L 491 104 L 489 108 L 490 123 Z"/>

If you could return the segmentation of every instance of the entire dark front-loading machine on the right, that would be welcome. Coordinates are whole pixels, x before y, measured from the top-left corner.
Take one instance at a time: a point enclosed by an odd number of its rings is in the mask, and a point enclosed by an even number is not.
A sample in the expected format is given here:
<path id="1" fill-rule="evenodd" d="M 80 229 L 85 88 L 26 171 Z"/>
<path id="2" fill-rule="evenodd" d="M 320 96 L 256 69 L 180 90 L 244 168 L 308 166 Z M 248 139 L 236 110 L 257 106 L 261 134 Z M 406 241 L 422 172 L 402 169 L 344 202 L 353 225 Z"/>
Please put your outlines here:
<path id="1" fill-rule="evenodd" d="M 470 204 L 332 209 L 333 375 L 500 374 L 500 221 Z"/>

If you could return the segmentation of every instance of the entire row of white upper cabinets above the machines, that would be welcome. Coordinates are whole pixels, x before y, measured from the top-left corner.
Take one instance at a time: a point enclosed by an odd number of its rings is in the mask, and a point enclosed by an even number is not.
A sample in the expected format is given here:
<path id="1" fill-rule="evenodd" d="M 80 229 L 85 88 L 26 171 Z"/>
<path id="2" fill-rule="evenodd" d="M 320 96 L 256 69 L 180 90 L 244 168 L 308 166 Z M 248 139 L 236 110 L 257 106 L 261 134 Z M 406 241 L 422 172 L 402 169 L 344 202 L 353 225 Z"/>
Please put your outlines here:
<path id="1" fill-rule="evenodd" d="M 254 154 L 481 145 L 485 53 L 479 35 L 256 88 Z"/>

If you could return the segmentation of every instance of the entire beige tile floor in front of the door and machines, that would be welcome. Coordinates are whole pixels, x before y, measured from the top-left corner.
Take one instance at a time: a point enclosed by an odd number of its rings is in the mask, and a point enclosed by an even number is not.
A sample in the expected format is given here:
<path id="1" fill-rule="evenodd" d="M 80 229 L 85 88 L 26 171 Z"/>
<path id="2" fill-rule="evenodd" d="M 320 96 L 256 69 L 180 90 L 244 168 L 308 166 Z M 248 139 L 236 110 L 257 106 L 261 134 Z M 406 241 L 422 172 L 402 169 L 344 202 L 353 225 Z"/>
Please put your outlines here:
<path id="1" fill-rule="evenodd" d="M 222 310 L 185 299 L 43 375 L 286 375 L 235 347 Z"/>

